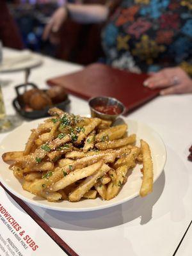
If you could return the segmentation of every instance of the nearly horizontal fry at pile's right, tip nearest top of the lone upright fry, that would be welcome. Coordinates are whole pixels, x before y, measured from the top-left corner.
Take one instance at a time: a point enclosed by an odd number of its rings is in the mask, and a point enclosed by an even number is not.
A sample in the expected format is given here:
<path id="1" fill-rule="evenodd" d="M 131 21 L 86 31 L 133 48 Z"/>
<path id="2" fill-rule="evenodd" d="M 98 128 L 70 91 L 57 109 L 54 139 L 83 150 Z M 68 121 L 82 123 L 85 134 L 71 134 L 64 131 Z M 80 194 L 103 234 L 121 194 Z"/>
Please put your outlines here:
<path id="1" fill-rule="evenodd" d="M 98 142 L 95 144 L 95 147 L 99 150 L 106 150 L 106 149 L 113 149 L 123 147 L 127 144 L 133 144 L 136 141 L 136 134 L 132 134 L 127 138 L 119 139 L 119 140 L 112 140 L 106 142 Z"/>

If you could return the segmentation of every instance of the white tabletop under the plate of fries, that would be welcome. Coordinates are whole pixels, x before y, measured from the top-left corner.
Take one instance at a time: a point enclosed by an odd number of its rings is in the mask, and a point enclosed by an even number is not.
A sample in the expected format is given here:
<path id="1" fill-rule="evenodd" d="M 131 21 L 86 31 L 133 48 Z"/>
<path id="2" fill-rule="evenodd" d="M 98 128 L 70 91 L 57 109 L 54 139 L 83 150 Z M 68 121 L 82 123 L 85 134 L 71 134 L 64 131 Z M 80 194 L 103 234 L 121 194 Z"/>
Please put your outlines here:
<path id="1" fill-rule="evenodd" d="M 50 77 L 81 69 L 64 61 L 47 57 L 43 60 L 44 65 L 34 69 L 29 78 L 41 88 L 45 88 Z M 13 86 L 24 81 L 24 74 L 2 74 L 0 79 L 10 80 L 10 84 L 3 86 L 3 93 L 7 113 L 13 114 Z M 72 95 L 70 100 L 72 113 L 89 113 L 86 100 Z M 168 159 L 164 172 L 146 198 L 134 198 L 95 212 L 56 212 L 30 207 L 79 255 L 173 255 L 192 220 L 192 163 L 187 160 L 192 144 L 191 106 L 192 95 L 157 97 L 128 116 L 156 129 L 166 145 Z M 1 134 L 0 140 L 4 136 Z"/>

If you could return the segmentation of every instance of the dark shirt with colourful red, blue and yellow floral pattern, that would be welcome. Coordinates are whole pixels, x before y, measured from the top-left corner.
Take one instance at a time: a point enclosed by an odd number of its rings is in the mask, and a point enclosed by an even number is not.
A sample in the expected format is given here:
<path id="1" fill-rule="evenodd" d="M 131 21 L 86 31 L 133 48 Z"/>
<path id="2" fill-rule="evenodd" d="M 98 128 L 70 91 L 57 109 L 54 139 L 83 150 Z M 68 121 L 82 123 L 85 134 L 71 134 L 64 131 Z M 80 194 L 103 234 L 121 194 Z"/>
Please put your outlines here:
<path id="1" fill-rule="evenodd" d="M 192 75 L 192 0 L 124 0 L 102 44 L 109 65 L 132 72 L 180 66 Z"/>

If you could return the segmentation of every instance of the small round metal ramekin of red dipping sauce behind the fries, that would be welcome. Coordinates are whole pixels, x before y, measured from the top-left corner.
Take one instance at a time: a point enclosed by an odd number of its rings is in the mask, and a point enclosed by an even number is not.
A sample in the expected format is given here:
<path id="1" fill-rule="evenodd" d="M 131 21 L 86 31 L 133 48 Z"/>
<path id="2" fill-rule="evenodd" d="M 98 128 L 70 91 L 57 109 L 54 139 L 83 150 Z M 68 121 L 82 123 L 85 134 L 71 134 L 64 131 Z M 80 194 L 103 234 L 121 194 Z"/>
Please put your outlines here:
<path id="1" fill-rule="evenodd" d="M 120 102 L 119 100 L 111 97 L 94 97 L 89 100 L 89 106 L 91 109 L 91 115 L 92 117 L 99 117 L 104 120 L 111 120 L 115 121 L 115 119 L 122 115 L 125 112 L 125 106 Z M 118 106 L 120 108 L 121 112 L 118 115 L 108 115 L 104 113 L 100 113 L 99 111 L 95 110 L 96 106 Z"/>

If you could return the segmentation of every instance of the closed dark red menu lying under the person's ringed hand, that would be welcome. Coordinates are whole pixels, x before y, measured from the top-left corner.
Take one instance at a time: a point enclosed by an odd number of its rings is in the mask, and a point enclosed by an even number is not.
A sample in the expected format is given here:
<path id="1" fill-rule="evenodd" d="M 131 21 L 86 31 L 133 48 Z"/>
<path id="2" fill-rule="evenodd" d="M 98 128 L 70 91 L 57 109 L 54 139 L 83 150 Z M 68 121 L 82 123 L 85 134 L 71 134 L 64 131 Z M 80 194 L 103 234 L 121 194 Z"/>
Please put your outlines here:
<path id="1" fill-rule="evenodd" d="M 108 65 L 94 63 L 79 72 L 49 79 L 49 85 L 63 86 L 68 93 L 83 99 L 115 97 L 131 111 L 159 95 L 159 90 L 143 86 L 147 74 L 134 74 Z"/>

